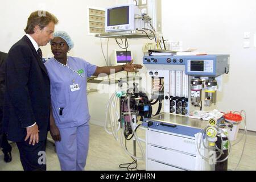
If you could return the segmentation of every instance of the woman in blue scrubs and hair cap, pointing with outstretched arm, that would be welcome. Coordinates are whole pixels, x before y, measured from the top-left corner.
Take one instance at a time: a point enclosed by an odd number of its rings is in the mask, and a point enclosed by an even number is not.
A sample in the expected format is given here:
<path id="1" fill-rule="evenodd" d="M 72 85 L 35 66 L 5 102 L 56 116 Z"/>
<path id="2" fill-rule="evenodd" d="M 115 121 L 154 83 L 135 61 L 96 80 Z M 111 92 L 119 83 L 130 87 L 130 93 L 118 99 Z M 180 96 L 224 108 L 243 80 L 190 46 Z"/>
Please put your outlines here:
<path id="1" fill-rule="evenodd" d="M 67 56 L 74 44 L 64 31 L 53 34 L 54 57 L 45 65 L 51 81 L 50 131 L 55 140 L 61 170 L 84 170 L 89 146 L 89 110 L 86 94 L 87 78 L 100 73 L 134 72 L 139 64 L 97 67 L 79 57 Z"/>

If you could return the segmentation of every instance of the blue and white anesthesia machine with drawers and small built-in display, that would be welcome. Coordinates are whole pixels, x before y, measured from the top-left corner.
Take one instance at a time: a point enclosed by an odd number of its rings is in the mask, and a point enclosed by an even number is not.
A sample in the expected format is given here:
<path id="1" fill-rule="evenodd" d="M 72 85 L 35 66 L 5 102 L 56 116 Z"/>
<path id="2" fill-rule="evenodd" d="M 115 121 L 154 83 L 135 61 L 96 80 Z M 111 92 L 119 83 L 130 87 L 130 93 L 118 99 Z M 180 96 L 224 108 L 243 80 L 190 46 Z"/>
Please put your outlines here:
<path id="1" fill-rule="evenodd" d="M 212 110 L 229 55 L 144 56 L 143 64 L 151 98 L 164 98 L 164 112 L 143 123 L 146 169 L 227 170 L 230 136 L 245 121 L 244 113 Z"/>

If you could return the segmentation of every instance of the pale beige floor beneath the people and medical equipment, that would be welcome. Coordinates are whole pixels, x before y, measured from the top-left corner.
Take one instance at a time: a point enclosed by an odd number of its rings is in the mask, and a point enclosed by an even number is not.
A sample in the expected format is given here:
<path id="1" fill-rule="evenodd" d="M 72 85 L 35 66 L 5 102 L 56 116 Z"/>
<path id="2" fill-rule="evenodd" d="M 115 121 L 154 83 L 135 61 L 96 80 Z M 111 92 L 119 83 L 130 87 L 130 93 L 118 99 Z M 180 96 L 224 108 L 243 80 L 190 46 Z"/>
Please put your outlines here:
<path id="1" fill-rule="evenodd" d="M 242 131 L 241 131 L 242 132 Z M 242 134 L 238 135 L 238 138 Z M 144 131 L 139 131 L 139 137 L 144 137 Z M 234 170 L 240 159 L 243 141 L 234 145 L 229 157 L 229 169 Z M 3 162 L 3 155 L 0 155 L 0 171 L 4 170 L 22 170 L 22 166 L 19 160 L 18 148 L 15 144 L 13 146 L 13 161 L 11 163 Z M 144 143 L 142 142 L 144 148 Z M 127 148 L 133 152 L 133 143 L 127 143 Z M 47 170 L 60 170 L 59 160 L 53 150 L 52 143 L 47 144 Z M 137 156 L 141 156 L 139 147 L 137 146 Z M 119 168 L 119 164 L 130 163 L 133 160 L 125 154 L 125 151 L 121 147 L 119 140 L 116 141 L 112 135 L 106 133 L 103 127 L 90 125 L 90 144 L 89 154 L 86 162 L 86 170 L 126 170 Z M 256 170 L 256 134 L 248 133 L 245 145 L 245 150 L 241 159 L 238 170 Z M 138 161 L 138 169 L 145 169 L 145 162 Z"/>

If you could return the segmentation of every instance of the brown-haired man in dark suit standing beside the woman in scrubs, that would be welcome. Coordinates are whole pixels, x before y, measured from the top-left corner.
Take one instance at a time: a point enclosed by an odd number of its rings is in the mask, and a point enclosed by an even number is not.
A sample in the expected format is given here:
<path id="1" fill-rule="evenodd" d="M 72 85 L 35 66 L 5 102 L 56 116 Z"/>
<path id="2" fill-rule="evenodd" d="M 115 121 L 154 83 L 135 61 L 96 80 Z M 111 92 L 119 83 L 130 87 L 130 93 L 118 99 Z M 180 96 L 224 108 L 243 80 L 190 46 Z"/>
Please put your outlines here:
<path id="1" fill-rule="evenodd" d="M 24 170 L 46 170 L 50 85 L 40 46 L 53 38 L 56 17 L 31 13 L 26 35 L 11 47 L 6 59 L 3 129 L 16 142 Z"/>

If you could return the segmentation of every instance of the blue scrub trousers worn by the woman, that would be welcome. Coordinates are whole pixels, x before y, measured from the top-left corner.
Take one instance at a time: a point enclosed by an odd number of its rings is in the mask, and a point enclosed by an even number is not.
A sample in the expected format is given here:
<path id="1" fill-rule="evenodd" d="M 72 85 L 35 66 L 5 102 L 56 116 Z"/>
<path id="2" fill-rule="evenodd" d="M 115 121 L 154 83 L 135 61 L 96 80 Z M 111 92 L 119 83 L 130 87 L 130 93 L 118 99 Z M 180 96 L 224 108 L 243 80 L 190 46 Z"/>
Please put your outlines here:
<path id="1" fill-rule="evenodd" d="M 60 142 L 55 142 L 62 171 L 83 171 L 89 147 L 89 122 L 60 130 Z"/>

